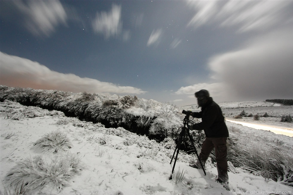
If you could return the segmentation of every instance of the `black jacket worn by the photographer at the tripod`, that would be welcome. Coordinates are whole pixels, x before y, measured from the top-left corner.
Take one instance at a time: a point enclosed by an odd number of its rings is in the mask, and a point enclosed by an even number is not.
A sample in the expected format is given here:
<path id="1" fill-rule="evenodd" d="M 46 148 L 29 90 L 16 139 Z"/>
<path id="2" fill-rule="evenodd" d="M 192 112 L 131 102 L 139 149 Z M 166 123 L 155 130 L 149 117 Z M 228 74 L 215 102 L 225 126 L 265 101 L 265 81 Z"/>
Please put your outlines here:
<path id="1" fill-rule="evenodd" d="M 206 137 L 229 137 L 228 128 L 222 110 L 213 98 L 209 97 L 201 112 L 193 112 L 191 116 L 202 118 L 202 122 L 192 126 L 194 130 L 204 130 Z"/>

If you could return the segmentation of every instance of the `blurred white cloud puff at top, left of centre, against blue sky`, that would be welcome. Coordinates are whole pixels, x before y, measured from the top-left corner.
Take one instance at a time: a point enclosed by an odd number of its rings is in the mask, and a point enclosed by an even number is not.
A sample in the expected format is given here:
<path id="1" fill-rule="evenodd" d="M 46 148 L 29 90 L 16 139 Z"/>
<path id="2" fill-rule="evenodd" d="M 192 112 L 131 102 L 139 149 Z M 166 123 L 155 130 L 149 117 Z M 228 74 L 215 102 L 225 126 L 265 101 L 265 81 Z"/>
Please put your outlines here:
<path id="1" fill-rule="evenodd" d="M 119 35 L 122 31 L 121 6 L 113 4 L 112 10 L 108 13 L 97 13 L 92 27 L 96 33 L 102 33 L 106 39 Z"/>

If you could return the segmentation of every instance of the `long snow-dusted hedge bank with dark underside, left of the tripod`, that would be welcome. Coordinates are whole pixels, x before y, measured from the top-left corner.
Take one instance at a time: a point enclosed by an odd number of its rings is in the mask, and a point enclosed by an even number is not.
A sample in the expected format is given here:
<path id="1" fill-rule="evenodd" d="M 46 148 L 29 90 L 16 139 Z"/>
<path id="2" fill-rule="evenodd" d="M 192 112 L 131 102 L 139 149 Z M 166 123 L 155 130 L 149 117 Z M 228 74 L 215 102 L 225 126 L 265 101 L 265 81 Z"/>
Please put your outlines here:
<path id="1" fill-rule="evenodd" d="M 163 141 L 166 137 L 176 140 L 185 116 L 176 106 L 129 95 L 107 96 L 0 85 L 0 101 L 4 100 L 59 110 L 66 116 L 94 123 L 100 122 L 107 128 L 123 127 L 130 132 L 146 135 L 158 141 Z M 196 119 L 191 119 L 191 123 L 195 121 Z"/>

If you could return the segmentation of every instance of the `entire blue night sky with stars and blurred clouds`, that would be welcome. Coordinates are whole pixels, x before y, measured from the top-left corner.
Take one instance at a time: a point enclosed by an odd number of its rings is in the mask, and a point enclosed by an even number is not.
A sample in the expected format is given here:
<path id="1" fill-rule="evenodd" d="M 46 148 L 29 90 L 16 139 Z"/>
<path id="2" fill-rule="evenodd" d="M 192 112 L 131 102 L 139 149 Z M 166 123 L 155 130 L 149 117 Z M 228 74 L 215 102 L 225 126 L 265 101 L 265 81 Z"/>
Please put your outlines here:
<path id="1" fill-rule="evenodd" d="M 0 84 L 177 106 L 293 99 L 293 1 L 0 1 Z"/>

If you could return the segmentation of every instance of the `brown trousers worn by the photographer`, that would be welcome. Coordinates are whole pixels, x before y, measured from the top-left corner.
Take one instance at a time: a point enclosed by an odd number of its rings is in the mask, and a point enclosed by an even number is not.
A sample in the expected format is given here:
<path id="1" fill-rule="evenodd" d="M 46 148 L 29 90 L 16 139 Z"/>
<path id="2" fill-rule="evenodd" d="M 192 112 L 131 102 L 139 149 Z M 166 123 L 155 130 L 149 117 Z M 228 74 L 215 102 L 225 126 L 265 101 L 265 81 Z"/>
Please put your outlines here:
<path id="1" fill-rule="evenodd" d="M 227 163 L 227 137 L 206 137 L 202 144 L 199 159 L 205 163 L 210 153 L 215 148 L 218 179 L 228 182 L 228 163 Z"/>

